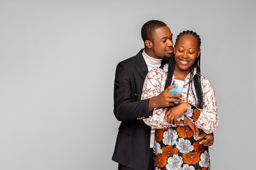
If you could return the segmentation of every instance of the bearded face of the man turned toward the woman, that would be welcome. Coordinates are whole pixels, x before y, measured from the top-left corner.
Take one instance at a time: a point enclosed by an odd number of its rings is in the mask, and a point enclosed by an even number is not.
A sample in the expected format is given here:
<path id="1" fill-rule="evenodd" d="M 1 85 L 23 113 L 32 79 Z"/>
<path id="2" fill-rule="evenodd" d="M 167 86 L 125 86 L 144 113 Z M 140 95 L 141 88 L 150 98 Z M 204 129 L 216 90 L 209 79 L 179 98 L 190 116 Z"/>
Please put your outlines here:
<path id="1" fill-rule="evenodd" d="M 168 26 L 163 26 L 155 30 L 156 35 L 151 48 L 150 57 L 161 59 L 171 57 L 173 53 L 173 34 Z"/>

